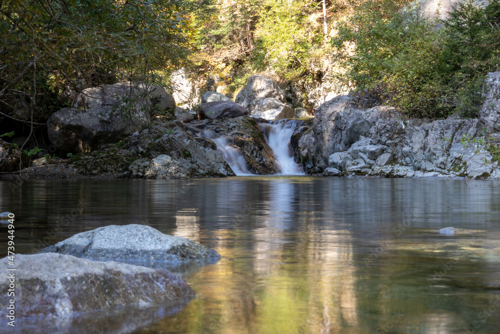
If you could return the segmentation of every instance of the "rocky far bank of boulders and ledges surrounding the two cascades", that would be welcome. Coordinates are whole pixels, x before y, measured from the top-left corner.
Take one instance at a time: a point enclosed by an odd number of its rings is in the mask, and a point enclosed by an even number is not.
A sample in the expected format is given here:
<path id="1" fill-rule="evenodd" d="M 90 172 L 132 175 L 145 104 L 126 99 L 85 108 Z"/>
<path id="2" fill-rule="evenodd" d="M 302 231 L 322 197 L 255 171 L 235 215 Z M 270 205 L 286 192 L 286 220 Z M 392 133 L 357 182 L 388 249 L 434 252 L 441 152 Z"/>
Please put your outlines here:
<path id="1" fill-rule="evenodd" d="M 123 104 L 117 93 L 130 87 L 107 86 L 92 89 L 74 108 L 54 113 L 47 122 L 53 145 L 73 156 L 38 159 L 39 166 L 22 169 L 20 177 L 233 176 L 208 130 L 241 152 L 250 173 L 276 174 L 279 168 L 259 124 L 307 116 L 303 108 L 293 111 L 283 91 L 263 76 L 250 77 L 235 102 L 205 92 L 193 109 L 175 107 L 161 87 L 139 87 L 132 90 L 137 96 L 127 115 L 116 111 Z M 478 118 L 444 120 L 410 119 L 385 106 L 363 108 L 366 101 L 359 97 L 336 96 L 299 122 L 289 153 L 309 175 L 500 178 L 499 95 L 500 72 L 490 73 Z M 0 179 L 19 177 L 12 172 L 29 160 L 1 140 L 0 156 Z"/>

